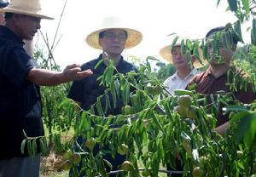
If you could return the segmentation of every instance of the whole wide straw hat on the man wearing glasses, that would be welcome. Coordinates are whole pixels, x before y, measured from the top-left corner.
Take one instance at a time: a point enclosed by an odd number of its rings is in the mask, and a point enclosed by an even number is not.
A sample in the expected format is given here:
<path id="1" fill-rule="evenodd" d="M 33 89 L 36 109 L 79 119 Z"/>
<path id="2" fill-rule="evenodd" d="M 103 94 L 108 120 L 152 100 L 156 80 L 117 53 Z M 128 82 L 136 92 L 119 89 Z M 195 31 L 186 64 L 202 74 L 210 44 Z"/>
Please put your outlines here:
<path id="1" fill-rule="evenodd" d="M 127 28 L 124 22 L 116 17 L 108 17 L 102 20 L 102 26 L 100 30 L 93 31 L 86 37 L 86 43 L 88 43 L 88 45 L 90 45 L 92 48 L 102 49 L 102 46 L 99 44 L 99 33 L 109 29 L 122 29 L 127 32 L 125 49 L 135 47 L 143 40 L 143 34 L 140 31 Z"/>

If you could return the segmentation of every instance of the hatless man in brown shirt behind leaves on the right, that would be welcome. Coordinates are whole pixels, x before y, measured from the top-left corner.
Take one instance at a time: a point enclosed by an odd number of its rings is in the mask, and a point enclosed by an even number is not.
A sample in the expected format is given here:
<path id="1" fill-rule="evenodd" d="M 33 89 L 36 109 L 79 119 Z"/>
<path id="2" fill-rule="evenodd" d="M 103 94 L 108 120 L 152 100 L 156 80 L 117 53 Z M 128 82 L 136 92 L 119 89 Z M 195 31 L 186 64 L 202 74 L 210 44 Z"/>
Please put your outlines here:
<path id="1" fill-rule="evenodd" d="M 226 35 L 230 32 L 230 41 L 226 41 Z M 236 52 L 236 45 L 241 41 L 234 35 L 234 31 L 230 31 L 227 26 L 218 26 L 207 32 L 207 60 L 209 67 L 207 71 L 193 77 L 189 85 L 196 85 L 195 91 L 207 95 L 207 104 L 212 106 L 212 95 L 214 99 L 218 99 L 215 95 L 219 91 L 225 92 L 230 96 L 230 103 L 236 100 L 244 104 L 252 103 L 256 100 L 256 94 L 253 91 L 253 84 L 239 82 L 247 77 L 247 74 L 236 66 L 232 65 L 233 54 Z M 213 45 L 217 43 L 217 45 Z M 214 49 L 216 48 L 216 49 Z M 217 50 L 218 49 L 218 50 Z M 218 54 L 216 54 L 218 51 Z M 236 88 L 230 85 L 236 85 Z M 210 96 L 211 95 L 211 96 Z M 228 114 L 224 114 L 222 103 L 219 104 L 219 109 L 216 114 L 217 123 L 214 129 L 218 134 L 224 135 L 227 128 L 230 126 L 230 118 Z M 212 106 L 214 107 L 214 106 Z"/>

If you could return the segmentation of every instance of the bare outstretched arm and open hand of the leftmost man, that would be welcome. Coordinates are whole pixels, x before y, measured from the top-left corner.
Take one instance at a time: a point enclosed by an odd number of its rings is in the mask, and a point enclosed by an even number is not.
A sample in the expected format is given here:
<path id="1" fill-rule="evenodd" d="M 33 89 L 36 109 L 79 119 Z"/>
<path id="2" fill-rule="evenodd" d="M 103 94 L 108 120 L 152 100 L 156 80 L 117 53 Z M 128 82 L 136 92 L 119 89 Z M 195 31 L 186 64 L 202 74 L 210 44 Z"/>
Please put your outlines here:
<path id="1" fill-rule="evenodd" d="M 80 80 L 84 77 L 88 77 L 92 74 L 92 71 L 81 71 L 81 68 L 77 64 L 67 66 L 63 71 L 50 71 L 44 69 L 33 68 L 28 72 L 26 77 L 32 83 L 44 86 L 54 86 L 61 83 L 68 83 L 74 80 Z"/>

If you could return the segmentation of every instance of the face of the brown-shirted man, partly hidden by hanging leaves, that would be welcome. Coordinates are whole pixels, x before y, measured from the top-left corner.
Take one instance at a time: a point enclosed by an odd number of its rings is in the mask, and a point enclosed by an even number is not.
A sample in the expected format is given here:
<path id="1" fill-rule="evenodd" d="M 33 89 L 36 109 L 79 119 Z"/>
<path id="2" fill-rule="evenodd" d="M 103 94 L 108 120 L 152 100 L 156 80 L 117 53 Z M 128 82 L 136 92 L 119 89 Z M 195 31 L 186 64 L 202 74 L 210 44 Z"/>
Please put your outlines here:
<path id="1" fill-rule="evenodd" d="M 236 50 L 236 45 L 233 44 L 233 46 L 230 45 L 230 43 L 227 43 L 228 47 L 225 47 L 224 45 L 224 38 L 220 38 L 219 39 L 219 43 L 218 43 L 218 48 L 219 48 L 219 54 L 214 54 L 213 51 L 213 44 L 212 44 L 212 38 L 214 36 L 214 33 L 212 33 L 208 39 L 208 49 L 207 49 L 207 53 L 208 53 L 208 60 L 210 62 L 211 65 L 222 65 L 222 64 L 227 64 L 230 65 L 230 62 L 232 60 L 232 55 Z"/>

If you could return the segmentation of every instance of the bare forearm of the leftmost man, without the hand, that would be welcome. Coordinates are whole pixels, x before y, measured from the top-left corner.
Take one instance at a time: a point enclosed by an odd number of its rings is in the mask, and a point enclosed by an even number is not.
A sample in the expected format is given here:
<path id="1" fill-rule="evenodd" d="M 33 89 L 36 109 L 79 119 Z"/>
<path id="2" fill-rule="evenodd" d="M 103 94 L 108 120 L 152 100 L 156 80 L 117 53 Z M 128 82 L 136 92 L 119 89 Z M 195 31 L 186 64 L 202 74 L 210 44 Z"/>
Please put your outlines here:
<path id="1" fill-rule="evenodd" d="M 49 71 L 44 69 L 33 68 L 28 72 L 27 80 L 37 85 L 54 86 L 60 83 L 67 83 L 68 77 L 65 77 L 63 72 Z"/>

